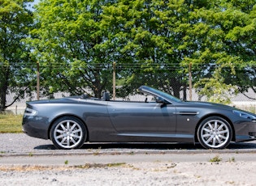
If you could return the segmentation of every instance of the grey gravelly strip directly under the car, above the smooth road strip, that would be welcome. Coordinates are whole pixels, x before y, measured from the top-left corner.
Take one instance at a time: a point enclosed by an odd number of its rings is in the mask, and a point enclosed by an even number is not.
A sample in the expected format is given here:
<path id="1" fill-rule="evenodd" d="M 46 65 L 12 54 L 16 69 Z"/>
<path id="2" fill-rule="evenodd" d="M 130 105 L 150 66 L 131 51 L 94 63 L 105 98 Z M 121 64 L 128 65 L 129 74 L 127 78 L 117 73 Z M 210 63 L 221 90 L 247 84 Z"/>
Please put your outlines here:
<path id="1" fill-rule="evenodd" d="M 57 150 L 50 140 L 29 137 L 24 133 L 0 133 L 0 155 L 42 154 L 205 154 L 256 153 L 256 141 L 231 143 L 225 150 L 205 150 L 187 143 L 85 143 L 77 150 Z"/>

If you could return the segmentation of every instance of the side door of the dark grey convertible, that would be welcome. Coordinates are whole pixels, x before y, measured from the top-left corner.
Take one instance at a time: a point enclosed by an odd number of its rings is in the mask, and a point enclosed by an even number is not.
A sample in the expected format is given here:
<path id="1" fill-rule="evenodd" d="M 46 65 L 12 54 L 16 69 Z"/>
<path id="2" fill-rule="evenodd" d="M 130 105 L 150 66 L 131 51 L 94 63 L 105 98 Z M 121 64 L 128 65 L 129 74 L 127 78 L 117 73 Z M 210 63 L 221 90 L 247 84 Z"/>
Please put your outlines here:
<path id="1" fill-rule="evenodd" d="M 176 133 L 176 108 L 171 104 L 113 101 L 107 108 L 118 133 L 152 137 Z"/>

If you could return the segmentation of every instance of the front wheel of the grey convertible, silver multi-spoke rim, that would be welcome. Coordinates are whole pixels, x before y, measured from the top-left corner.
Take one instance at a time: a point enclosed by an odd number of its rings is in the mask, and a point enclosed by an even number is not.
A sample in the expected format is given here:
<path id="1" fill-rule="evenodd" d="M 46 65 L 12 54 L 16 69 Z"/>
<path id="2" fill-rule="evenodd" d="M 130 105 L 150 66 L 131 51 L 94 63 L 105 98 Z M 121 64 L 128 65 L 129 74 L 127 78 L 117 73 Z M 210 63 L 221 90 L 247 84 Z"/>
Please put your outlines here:
<path id="1" fill-rule="evenodd" d="M 211 116 L 200 123 L 197 138 L 206 149 L 224 149 L 231 142 L 232 128 L 227 120 Z"/>

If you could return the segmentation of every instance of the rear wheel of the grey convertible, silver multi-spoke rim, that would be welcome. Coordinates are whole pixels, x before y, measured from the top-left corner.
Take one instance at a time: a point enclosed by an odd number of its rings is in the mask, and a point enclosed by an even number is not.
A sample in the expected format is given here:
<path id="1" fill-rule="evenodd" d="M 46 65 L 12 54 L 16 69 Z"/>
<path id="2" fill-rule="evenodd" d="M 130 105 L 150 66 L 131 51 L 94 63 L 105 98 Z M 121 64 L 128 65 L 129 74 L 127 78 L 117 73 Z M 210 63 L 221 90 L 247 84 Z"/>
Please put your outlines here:
<path id="1" fill-rule="evenodd" d="M 87 137 L 85 125 L 76 117 L 64 116 L 50 129 L 50 139 L 57 149 L 79 149 Z"/>

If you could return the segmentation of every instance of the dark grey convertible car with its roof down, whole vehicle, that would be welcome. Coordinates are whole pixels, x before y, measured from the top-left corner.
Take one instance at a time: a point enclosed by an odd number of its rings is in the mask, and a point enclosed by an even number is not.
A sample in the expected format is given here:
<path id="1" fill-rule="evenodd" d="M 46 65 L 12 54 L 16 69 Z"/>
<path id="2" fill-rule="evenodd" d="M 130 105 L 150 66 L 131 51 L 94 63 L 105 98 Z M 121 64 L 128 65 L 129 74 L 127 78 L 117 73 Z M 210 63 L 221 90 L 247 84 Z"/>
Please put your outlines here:
<path id="1" fill-rule="evenodd" d="M 50 139 L 58 149 L 85 142 L 199 142 L 223 149 L 256 137 L 256 115 L 222 104 L 186 102 L 152 87 L 139 89 L 139 102 L 87 96 L 27 103 L 23 130 Z"/>

